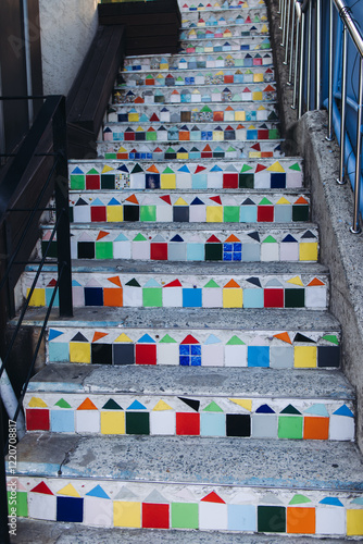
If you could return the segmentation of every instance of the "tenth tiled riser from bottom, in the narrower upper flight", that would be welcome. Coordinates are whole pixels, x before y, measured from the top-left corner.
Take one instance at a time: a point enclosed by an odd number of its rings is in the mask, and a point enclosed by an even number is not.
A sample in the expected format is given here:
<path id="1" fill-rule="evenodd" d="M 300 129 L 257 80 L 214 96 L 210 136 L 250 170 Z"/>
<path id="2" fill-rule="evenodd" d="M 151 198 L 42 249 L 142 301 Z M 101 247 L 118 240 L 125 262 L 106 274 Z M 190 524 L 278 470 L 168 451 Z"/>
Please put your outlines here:
<path id="1" fill-rule="evenodd" d="M 139 121 L 152 122 L 155 128 L 161 123 L 233 123 L 246 121 L 276 121 L 277 109 L 273 103 L 259 104 L 246 102 L 243 104 L 225 106 L 225 103 L 208 107 L 196 107 L 196 104 L 135 104 L 134 108 L 113 104 L 113 111 L 108 114 L 110 122 L 137 123 Z M 145 116 L 146 115 L 146 116 Z"/>

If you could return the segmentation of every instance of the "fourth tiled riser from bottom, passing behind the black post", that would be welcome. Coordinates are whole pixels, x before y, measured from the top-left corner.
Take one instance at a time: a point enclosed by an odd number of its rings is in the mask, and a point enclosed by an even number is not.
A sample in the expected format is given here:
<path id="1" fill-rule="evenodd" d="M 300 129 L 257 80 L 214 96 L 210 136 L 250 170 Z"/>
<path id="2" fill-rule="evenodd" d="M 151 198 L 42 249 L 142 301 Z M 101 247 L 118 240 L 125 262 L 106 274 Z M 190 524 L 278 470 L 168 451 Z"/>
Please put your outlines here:
<path id="1" fill-rule="evenodd" d="M 48 306 L 54 289 L 54 272 L 43 272 L 40 275 L 30 299 L 30 306 Z M 327 308 L 328 279 L 325 275 L 317 280 L 313 275 L 293 279 L 284 275 L 260 276 L 255 281 L 260 282 L 261 287 L 249 282 L 248 277 L 237 274 L 234 280 L 230 276 L 217 274 L 213 274 L 213 277 L 179 274 L 179 279 L 167 274 L 113 274 L 110 277 L 107 272 L 103 274 L 74 273 L 73 304 L 75 307 L 133 308 L 296 308 L 300 310 Z M 24 297 L 28 295 L 33 279 L 32 272 L 25 272 L 22 277 Z M 206 286 L 211 280 L 216 281 L 220 287 Z M 276 280 L 280 286 L 270 287 L 268 282 Z M 92 281 L 91 284 L 89 284 L 90 281 Z M 127 285 L 129 282 L 132 285 Z M 311 282 L 313 285 L 310 286 Z M 165 287 L 168 284 L 172 285 Z M 58 296 L 55 306 L 58 306 Z"/>

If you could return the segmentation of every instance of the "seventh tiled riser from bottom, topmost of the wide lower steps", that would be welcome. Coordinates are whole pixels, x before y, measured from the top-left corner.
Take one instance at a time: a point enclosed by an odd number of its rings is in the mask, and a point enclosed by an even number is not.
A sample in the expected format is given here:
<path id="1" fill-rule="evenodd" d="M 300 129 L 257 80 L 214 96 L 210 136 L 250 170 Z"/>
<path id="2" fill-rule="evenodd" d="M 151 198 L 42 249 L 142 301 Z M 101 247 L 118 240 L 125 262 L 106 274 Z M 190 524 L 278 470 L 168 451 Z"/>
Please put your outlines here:
<path id="1" fill-rule="evenodd" d="M 73 190 L 115 189 L 167 189 L 197 188 L 203 174 L 206 189 L 222 189 L 233 185 L 240 189 L 300 188 L 303 183 L 302 161 L 299 158 L 280 157 L 243 162 L 152 162 L 70 161 L 70 188 Z M 158 171 L 158 172 L 157 172 Z M 198 175 L 199 174 L 199 175 Z"/>

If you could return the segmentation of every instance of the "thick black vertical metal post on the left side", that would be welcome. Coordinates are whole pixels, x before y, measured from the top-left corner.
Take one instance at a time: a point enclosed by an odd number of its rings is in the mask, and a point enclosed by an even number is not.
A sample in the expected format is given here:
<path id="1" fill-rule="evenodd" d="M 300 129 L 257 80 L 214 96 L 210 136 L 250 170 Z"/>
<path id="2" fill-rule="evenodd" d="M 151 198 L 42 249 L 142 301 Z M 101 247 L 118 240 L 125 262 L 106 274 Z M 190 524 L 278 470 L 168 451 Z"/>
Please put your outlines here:
<path id="1" fill-rule="evenodd" d="M 68 170 L 66 145 L 66 115 L 65 98 L 60 101 L 53 116 L 53 147 L 57 153 L 55 166 L 55 213 L 60 219 L 57 228 L 57 256 L 59 284 L 60 316 L 73 316 L 72 301 L 72 265 L 71 265 L 71 236 L 70 236 L 70 200 L 68 200 Z M 63 270 L 62 270 L 63 269 Z M 61 274 L 62 270 L 62 274 Z"/>

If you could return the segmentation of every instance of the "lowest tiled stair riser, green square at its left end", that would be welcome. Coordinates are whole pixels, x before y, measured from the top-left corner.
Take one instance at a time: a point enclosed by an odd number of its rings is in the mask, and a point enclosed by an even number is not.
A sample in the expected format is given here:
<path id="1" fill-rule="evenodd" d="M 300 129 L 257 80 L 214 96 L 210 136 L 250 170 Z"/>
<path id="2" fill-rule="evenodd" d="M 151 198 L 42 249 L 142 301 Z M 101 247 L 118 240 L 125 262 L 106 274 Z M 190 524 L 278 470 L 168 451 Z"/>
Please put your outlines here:
<path id="1" fill-rule="evenodd" d="M 42 482 L 39 492 L 33 491 Z M 9 478 L 8 483 L 18 487 L 18 516 L 49 521 L 89 527 L 229 530 L 281 536 L 343 537 L 348 534 L 359 539 L 363 534 L 363 509 L 354 503 L 359 495 L 343 492 L 137 482 L 128 482 L 126 486 L 123 481 L 72 477 L 62 480 Z M 11 493 L 14 492 L 9 485 L 10 498 Z"/>

